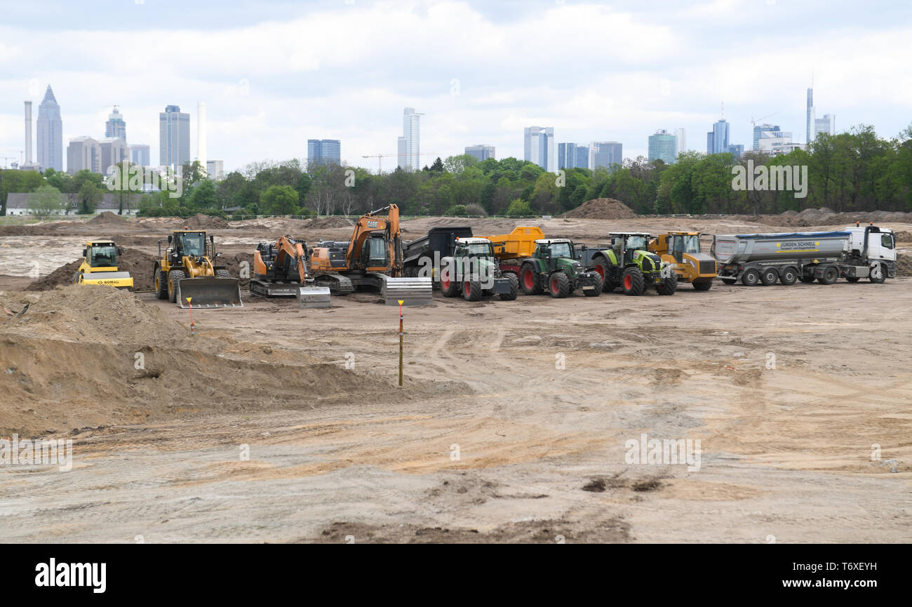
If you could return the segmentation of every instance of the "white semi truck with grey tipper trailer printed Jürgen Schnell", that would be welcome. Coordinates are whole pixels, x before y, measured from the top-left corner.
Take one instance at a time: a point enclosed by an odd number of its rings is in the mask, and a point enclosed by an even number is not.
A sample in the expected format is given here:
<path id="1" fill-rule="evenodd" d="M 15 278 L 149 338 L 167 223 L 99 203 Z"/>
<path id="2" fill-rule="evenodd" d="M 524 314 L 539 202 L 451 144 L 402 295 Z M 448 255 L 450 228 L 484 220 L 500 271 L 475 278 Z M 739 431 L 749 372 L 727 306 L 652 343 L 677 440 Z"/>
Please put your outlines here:
<path id="1" fill-rule="evenodd" d="M 832 285 L 868 278 L 896 277 L 896 238 L 892 230 L 855 225 L 836 232 L 715 235 L 710 253 L 722 282 L 793 285 L 796 281 Z"/>

